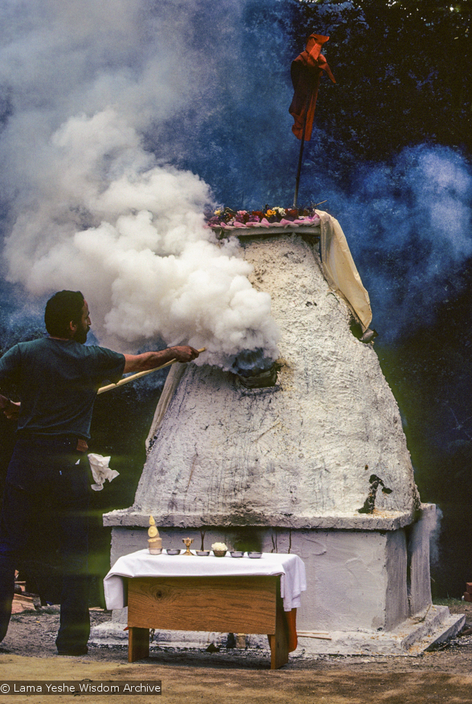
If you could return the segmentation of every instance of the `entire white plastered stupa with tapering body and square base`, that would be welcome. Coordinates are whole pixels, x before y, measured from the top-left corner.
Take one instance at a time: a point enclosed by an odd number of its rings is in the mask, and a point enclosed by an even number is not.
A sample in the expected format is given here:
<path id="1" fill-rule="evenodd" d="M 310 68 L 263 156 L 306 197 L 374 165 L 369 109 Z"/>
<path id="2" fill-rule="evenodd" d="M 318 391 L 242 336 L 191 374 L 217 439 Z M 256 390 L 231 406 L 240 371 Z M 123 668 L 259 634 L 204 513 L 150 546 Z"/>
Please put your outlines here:
<path id="1" fill-rule="evenodd" d="M 236 233 L 253 286 L 272 296 L 281 356 L 258 378 L 207 365 L 171 368 L 134 505 L 104 517 L 113 527 L 112 564 L 146 545 L 150 514 L 165 547 L 186 536 L 199 547 L 204 531 L 207 547 L 221 540 L 296 553 L 307 591 L 295 656 L 421 652 L 464 618 L 431 604 L 435 506 L 421 504 L 373 345 L 351 332 L 353 306 L 336 286 L 336 257 L 329 269 L 330 237 L 340 228 L 319 215 L 321 227 Z M 352 272 L 358 278 L 353 263 Z"/>

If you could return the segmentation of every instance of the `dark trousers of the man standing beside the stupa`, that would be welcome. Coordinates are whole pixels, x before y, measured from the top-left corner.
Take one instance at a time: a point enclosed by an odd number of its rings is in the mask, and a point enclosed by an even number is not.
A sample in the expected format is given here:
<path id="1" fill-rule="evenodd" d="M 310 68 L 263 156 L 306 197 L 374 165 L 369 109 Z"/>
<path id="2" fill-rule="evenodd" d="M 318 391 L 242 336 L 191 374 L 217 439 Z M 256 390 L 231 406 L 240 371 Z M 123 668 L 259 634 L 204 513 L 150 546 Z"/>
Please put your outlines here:
<path id="1" fill-rule="evenodd" d="M 77 438 L 21 437 L 8 465 L 0 522 L 0 641 L 11 615 L 15 569 L 43 526 L 58 539 L 63 569 L 58 651 L 80 650 L 90 634 L 88 520 L 89 480 Z"/>

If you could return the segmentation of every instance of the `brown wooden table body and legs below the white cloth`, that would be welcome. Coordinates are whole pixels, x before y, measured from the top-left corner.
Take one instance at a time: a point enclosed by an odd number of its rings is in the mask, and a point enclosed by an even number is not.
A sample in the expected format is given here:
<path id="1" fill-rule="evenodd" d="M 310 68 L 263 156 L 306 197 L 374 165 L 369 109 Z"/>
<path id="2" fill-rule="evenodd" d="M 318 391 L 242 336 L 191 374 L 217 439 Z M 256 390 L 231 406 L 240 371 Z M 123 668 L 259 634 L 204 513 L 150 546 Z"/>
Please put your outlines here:
<path id="1" fill-rule="evenodd" d="M 280 575 L 130 577 L 128 662 L 149 655 L 149 629 L 265 633 L 271 670 L 288 662 Z"/>

